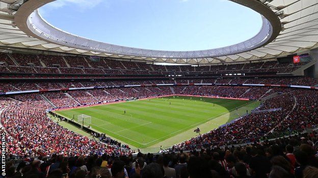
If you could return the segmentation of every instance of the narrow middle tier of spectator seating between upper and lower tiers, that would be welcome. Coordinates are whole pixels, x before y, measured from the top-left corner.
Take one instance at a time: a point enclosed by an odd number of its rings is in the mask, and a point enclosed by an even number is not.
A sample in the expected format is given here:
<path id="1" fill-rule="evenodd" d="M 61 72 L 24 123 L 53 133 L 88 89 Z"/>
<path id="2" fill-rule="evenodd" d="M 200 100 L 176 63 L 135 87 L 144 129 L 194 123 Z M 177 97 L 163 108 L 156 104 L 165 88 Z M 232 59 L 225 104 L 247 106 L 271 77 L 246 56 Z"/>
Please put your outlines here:
<path id="1" fill-rule="evenodd" d="M 136 80 L 136 81 L 72 81 L 72 82 L 4 82 L 0 85 L 0 92 L 25 90 L 53 90 L 60 88 L 105 87 L 125 85 L 153 85 L 153 84 L 272 84 L 272 85 L 300 85 L 315 86 L 317 79 L 307 77 L 286 78 L 215 78 L 190 80 Z"/>

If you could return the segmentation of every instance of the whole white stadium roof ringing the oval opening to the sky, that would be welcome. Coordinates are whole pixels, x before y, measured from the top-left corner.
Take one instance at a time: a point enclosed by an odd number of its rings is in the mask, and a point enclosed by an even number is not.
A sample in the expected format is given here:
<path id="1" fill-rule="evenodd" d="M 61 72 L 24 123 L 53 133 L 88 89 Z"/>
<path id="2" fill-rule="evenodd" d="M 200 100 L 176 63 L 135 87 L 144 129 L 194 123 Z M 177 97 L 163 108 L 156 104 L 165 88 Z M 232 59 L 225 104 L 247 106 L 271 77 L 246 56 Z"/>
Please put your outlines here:
<path id="1" fill-rule="evenodd" d="M 318 46 L 318 0 L 231 0 L 259 12 L 261 30 L 240 44 L 202 51 L 137 49 L 78 37 L 40 16 L 37 9 L 52 1 L 1 0 L 0 46 L 189 64 L 275 58 Z"/>

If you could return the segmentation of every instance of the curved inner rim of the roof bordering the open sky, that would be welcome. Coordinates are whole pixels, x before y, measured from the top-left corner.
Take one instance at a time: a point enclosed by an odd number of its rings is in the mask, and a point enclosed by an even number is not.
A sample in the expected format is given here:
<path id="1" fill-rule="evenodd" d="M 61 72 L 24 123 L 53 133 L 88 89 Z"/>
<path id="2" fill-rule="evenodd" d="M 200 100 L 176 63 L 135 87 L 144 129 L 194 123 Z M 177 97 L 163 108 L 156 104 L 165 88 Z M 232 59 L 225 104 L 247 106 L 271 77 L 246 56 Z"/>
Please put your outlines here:
<path id="1" fill-rule="evenodd" d="M 48 24 L 37 9 L 55 0 L 29 0 L 22 4 L 15 14 L 15 23 L 19 29 L 34 38 L 71 48 L 88 50 L 98 53 L 116 54 L 120 57 L 132 56 L 145 58 L 207 58 L 234 55 L 260 48 L 272 42 L 281 30 L 281 22 L 275 12 L 256 0 L 230 0 L 246 6 L 262 15 L 262 28 L 253 38 L 228 47 L 201 51 L 158 51 L 129 48 L 78 37 L 64 32 Z M 183 60 L 184 61 L 184 60 Z"/>

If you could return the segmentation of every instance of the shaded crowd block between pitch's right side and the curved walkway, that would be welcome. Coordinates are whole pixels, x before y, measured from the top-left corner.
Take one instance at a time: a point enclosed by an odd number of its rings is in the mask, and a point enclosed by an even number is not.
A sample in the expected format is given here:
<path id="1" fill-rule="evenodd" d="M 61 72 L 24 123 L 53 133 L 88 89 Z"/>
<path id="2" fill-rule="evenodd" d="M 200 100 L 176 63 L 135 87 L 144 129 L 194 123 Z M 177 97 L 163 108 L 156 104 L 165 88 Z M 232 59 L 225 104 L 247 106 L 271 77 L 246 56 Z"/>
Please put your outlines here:
<path id="1" fill-rule="evenodd" d="M 271 131 L 285 116 L 282 111 L 252 113 L 226 126 L 175 145 L 171 148 L 171 151 L 253 142 L 256 140 L 255 138 L 266 135 Z"/>

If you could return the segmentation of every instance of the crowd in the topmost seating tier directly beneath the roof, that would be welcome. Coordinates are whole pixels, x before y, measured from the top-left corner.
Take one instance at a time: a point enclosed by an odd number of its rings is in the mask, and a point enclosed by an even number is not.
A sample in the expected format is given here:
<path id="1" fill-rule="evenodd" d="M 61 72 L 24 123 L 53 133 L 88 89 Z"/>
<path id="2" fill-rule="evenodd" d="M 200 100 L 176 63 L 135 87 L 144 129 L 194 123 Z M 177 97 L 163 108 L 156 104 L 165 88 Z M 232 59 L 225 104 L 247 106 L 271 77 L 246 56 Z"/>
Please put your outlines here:
<path id="1" fill-rule="evenodd" d="M 211 66 L 161 66 L 142 62 L 117 61 L 102 57 L 99 61 L 94 61 L 85 56 L 30 55 L 18 53 L 1 53 L 0 62 L 7 64 L 7 66 L 2 67 L 2 72 L 7 73 L 94 75 L 200 75 L 266 72 L 290 73 L 306 64 L 306 62 L 301 62 L 299 64 L 284 64 L 278 63 L 277 61 L 267 61 Z"/>

